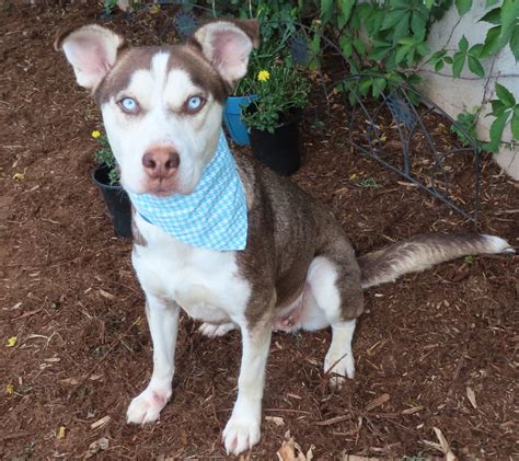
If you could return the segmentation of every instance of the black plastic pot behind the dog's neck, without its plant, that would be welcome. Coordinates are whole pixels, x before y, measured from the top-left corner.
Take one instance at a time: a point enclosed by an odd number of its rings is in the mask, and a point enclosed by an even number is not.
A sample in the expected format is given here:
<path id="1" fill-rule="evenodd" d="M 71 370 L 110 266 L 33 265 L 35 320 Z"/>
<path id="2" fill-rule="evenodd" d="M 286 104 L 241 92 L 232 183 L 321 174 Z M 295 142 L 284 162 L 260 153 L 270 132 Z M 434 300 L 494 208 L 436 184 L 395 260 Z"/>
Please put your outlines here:
<path id="1" fill-rule="evenodd" d="M 251 148 L 256 158 L 276 173 L 288 176 L 301 166 L 299 116 L 291 116 L 274 134 L 251 128 Z"/>

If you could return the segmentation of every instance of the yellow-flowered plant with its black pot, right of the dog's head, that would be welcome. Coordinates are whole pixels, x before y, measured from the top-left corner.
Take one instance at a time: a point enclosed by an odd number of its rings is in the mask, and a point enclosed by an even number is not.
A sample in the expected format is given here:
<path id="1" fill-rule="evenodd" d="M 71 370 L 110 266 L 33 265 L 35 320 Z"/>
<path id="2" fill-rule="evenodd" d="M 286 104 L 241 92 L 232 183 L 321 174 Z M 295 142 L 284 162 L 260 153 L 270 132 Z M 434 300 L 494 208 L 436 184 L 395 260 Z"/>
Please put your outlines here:
<path id="1" fill-rule="evenodd" d="M 301 164 L 299 122 L 310 82 L 286 47 L 268 46 L 251 59 L 243 88 L 256 99 L 242 114 L 255 155 L 281 175 Z"/>

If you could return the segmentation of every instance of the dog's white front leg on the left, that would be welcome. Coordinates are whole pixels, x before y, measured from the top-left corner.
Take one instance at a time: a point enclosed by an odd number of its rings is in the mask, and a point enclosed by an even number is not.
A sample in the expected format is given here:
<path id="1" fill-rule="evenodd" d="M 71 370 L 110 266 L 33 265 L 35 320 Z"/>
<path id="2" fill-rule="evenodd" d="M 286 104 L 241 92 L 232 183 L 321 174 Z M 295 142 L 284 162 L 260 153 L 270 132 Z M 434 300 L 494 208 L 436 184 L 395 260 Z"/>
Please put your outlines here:
<path id="1" fill-rule="evenodd" d="M 153 342 L 153 373 L 148 387 L 136 396 L 127 412 L 128 423 L 145 424 L 159 419 L 171 397 L 175 372 L 175 344 L 180 308 L 175 302 L 147 296 L 146 313 Z"/>

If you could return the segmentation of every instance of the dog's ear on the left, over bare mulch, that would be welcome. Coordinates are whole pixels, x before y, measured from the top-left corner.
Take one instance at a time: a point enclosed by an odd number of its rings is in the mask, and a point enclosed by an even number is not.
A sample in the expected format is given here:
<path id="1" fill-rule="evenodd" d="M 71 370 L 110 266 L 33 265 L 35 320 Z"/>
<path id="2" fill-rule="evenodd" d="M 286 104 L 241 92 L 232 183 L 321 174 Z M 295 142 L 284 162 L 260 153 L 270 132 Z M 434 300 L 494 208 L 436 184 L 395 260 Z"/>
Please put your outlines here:
<path id="1" fill-rule="evenodd" d="M 96 24 L 62 32 L 54 43 L 67 56 L 78 84 L 92 91 L 114 67 L 123 45 L 120 35 Z"/>

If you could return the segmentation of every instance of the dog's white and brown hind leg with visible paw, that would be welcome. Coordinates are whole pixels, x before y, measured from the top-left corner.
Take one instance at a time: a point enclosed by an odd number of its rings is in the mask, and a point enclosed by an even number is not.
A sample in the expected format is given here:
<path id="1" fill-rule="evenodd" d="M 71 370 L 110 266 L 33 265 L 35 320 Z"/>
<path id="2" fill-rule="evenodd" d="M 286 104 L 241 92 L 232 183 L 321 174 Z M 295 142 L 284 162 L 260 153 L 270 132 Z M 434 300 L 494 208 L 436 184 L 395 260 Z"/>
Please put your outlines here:
<path id="1" fill-rule="evenodd" d="M 308 309 L 322 311 L 332 325 L 332 344 L 324 359 L 324 371 L 333 373 L 331 385 L 341 388 L 346 377 L 354 378 L 355 374 L 351 339 L 356 318 L 364 309 L 360 272 L 353 253 L 315 257 L 307 283 L 314 301 Z"/>

